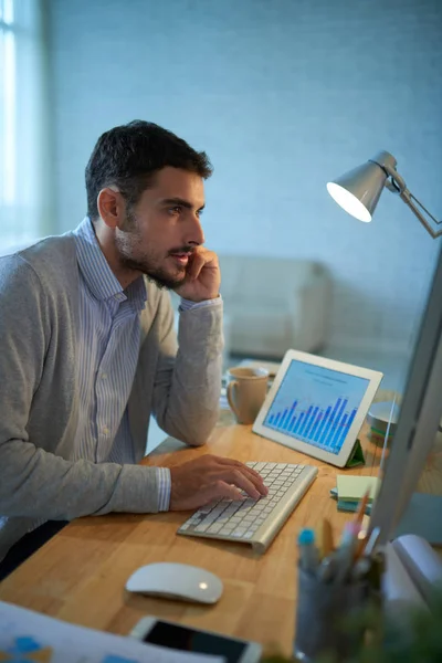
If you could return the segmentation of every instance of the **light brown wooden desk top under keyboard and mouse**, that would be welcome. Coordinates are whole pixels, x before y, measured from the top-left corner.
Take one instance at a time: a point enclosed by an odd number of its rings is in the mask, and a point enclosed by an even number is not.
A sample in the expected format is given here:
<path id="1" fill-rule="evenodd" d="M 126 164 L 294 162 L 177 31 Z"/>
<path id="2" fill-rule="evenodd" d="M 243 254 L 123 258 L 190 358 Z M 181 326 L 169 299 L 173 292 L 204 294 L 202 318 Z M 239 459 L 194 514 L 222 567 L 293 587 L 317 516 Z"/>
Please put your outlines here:
<path id="1" fill-rule="evenodd" d="M 225 421 L 225 418 L 228 421 Z M 240 461 L 312 463 L 319 474 L 269 550 L 259 556 L 243 544 L 180 537 L 188 513 L 150 516 L 113 514 L 71 523 L 0 585 L 0 599 L 67 622 L 127 634 L 145 614 L 255 640 L 265 651 L 291 654 L 296 602 L 296 538 L 304 526 L 326 516 L 335 535 L 348 515 L 338 513 L 329 490 L 343 470 L 315 461 L 252 433 L 251 427 L 224 423 L 203 448 L 188 449 L 168 439 L 149 465 L 173 465 L 204 453 Z M 377 474 L 381 450 L 362 435 L 367 464 L 354 474 Z M 173 451 L 175 453 L 170 454 Z M 350 472 L 350 471 L 347 471 Z M 130 573 L 154 561 L 202 566 L 224 583 L 218 604 L 203 607 L 131 596 Z"/>

